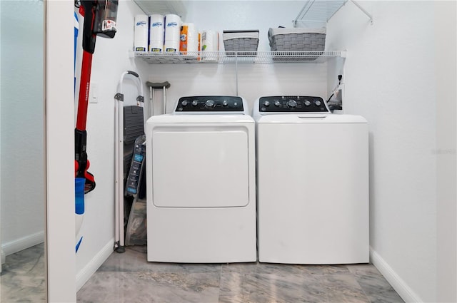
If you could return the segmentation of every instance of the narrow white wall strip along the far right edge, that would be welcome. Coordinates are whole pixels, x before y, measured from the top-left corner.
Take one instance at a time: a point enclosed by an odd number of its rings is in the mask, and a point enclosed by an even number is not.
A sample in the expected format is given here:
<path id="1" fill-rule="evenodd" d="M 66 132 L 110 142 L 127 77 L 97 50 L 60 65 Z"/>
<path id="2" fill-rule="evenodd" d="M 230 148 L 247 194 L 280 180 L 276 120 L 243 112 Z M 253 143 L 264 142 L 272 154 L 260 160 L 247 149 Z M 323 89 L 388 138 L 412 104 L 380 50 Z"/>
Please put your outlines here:
<path id="1" fill-rule="evenodd" d="M 457 3 L 455 1 L 437 3 L 434 13 L 437 54 L 435 57 L 437 301 L 457 302 Z"/>

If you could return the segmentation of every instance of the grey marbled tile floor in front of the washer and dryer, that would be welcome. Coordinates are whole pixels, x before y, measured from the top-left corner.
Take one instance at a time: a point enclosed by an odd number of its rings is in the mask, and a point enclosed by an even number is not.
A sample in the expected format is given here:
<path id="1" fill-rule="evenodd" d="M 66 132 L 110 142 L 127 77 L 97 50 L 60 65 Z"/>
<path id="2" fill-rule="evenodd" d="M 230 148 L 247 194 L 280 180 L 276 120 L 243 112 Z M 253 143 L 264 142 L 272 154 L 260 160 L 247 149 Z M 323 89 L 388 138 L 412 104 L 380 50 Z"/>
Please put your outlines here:
<path id="1" fill-rule="evenodd" d="M 89 302 L 403 302 L 373 265 L 189 265 L 114 252 L 77 293 Z"/>

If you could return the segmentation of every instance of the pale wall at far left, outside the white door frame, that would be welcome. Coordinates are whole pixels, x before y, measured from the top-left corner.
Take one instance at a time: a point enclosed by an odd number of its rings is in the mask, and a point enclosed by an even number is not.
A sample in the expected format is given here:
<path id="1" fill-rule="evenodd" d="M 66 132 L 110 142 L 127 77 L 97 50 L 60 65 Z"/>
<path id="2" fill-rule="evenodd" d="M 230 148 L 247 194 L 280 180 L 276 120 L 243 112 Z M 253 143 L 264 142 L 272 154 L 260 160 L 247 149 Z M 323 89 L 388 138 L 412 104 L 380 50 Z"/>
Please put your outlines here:
<path id="1" fill-rule="evenodd" d="M 42 1 L 1 1 L 0 200 L 6 255 L 44 241 L 43 12 Z"/>

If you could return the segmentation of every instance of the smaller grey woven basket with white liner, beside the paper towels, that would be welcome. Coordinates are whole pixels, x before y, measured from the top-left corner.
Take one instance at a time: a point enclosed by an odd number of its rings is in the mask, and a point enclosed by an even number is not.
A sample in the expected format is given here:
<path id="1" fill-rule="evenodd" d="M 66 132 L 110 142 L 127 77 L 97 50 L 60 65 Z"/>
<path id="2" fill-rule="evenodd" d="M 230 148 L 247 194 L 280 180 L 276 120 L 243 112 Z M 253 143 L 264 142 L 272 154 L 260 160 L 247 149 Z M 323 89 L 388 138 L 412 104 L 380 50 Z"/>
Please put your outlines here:
<path id="1" fill-rule="evenodd" d="M 226 51 L 257 51 L 258 30 L 223 31 Z"/>

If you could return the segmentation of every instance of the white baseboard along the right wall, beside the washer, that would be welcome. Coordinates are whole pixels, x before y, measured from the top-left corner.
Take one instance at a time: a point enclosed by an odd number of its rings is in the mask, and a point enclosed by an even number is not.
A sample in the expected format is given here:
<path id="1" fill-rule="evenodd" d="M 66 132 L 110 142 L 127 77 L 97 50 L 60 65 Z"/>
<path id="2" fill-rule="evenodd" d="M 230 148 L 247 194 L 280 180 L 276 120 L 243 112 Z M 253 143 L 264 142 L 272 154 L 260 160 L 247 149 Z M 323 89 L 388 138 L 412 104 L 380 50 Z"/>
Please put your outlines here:
<path id="1" fill-rule="evenodd" d="M 408 284 L 406 284 L 401 277 L 396 274 L 396 272 L 388 265 L 386 261 L 383 260 L 383 258 L 378 255 L 377 252 L 373 250 L 373 248 L 370 247 L 370 260 L 371 263 L 381 272 L 381 274 L 386 278 L 386 280 L 392 285 L 393 289 L 400 295 L 401 299 L 405 301 L 406 303 L 411 302 L 411 303 L 421 303 L 423 300 L 421 297 L 416 294 L 416 292 L 413 292 L 413 289 L 411 289 Z"/>

